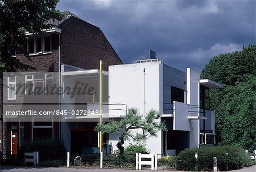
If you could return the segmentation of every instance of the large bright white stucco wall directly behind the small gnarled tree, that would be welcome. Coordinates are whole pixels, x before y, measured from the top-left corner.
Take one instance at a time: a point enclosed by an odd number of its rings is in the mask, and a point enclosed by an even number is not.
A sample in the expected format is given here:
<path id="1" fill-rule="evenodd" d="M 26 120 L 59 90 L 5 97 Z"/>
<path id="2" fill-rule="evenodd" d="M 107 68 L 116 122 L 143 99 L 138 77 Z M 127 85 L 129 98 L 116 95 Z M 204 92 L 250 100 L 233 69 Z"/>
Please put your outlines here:
<path id="1" fill-rule="evenodd" d="M 160 77 L 162 63 L 137 63 L 129 65 L 109 66 L 109 104 L 126 104 L 127 108 L 136 107 L 144 115 L 144 93 L 146 93 L 146 111 L 160 110 Z M 144 72 L 146 69 L 146 89 L 144 89 Z M 110 134 L 109 140 L 114 149 L 119 134 Z M 115 137 L 115 138 L 114 138 Z M 111 140 L 112 139 L 112 140 Z M 157 138 L 146 141 L 151 153 L 161 153 L 161 132 Z M 124 147 L 129 145 L 125 141 Z"/>

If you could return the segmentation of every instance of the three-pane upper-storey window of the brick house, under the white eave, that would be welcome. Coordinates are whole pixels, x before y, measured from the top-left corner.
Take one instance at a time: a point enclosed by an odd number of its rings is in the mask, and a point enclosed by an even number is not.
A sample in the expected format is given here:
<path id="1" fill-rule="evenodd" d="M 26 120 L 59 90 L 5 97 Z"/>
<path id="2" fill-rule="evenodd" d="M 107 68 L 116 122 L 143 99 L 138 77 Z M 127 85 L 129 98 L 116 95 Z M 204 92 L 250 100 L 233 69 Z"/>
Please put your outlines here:
<path id="1" fill-rule="evenodd" d="M 29 38 L 27 40 L 27 51 L 30 55 L 51 53 L 51 36 Z"/>

